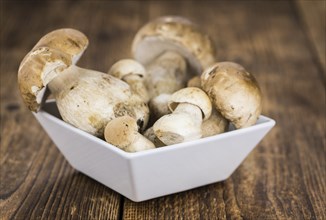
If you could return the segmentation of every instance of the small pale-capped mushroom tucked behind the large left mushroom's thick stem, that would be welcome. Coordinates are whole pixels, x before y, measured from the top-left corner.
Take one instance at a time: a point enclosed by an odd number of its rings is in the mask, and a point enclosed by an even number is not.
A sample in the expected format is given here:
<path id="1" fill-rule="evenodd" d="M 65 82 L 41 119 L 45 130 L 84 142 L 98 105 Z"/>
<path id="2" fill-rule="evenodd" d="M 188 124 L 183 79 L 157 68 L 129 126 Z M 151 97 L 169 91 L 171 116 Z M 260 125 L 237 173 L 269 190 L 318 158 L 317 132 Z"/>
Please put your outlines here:
<path id="1" fill-rule="evenodd" d="M 144 102 L 149 101 L 149 95 L 144 83 L 147 73 L 142 64 L 132 59 L 119 60 L 111 66 L 108 73 L 128 83 L 131 90 L 139 95 Z"/>

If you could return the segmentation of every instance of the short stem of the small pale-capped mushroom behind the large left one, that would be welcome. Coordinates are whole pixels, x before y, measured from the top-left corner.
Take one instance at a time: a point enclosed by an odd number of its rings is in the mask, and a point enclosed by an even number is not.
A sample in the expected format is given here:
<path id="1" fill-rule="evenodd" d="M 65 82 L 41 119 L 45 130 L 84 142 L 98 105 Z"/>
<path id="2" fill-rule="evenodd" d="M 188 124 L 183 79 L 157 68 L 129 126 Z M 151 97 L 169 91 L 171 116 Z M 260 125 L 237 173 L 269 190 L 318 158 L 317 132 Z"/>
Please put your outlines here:
<path id="1" fill-rule="evenodd" d="M 149 101 L 149 95 L 146 89 L 146 86 L 144 84 L 144 78 L 140 75 L 137 74 L 130 74 L 130 75 L 126 75 L 122 78 L 123 81 L 125 81 L 126 83 L 128 83 L 128 85 L 130 86 L 130 89 L 137 95 L 139 95 L 139 97 L 142 98 L 142 100 L 144 100 L 144 102 L 148 102 Z"/>

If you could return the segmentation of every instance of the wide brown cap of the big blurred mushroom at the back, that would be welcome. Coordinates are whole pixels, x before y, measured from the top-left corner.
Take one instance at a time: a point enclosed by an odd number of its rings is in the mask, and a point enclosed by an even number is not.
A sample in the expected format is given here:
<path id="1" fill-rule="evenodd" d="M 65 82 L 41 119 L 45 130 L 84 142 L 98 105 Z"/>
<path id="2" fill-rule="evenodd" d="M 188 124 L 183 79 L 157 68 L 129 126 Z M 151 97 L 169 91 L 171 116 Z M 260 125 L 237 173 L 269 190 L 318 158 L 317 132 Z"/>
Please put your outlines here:
<path id="1" fill-rule="evenodd" d="M 143 26 L 135 36 L 132 53 L 144 65 L 166 51 L 176 51 L 199 74 L 215 61 L 215 47 L 189 20 L 177 16 L 160 17 Z"/>

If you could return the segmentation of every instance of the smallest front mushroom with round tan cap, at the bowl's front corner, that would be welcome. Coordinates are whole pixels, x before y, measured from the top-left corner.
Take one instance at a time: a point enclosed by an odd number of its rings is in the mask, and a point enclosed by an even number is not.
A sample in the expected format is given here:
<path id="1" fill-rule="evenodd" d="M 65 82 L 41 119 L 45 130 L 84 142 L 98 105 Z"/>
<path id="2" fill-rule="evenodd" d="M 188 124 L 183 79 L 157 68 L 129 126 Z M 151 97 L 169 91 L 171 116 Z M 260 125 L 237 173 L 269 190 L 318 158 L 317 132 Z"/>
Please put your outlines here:
<path id="1" fill-rule="evenodd" d="M 104 130 L 105 140 L 127 152 L 154 149 L 154 144 L 138 132 L 134 118 L 125 115 L 108 122 Z"/>

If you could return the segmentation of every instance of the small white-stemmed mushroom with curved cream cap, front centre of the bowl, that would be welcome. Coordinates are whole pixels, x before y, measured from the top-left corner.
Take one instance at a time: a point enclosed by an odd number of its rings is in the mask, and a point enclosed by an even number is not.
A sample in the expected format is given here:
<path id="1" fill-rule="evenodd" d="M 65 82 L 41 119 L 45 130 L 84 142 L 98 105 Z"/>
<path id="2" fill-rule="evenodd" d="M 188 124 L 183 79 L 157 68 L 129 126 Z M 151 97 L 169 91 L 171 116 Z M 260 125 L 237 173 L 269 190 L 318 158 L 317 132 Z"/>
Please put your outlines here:
<path id="1" fill-rule="evenodd" d="M 195 87 L 172 94 L 168 103 L 171 114 L 164 115 L 154 125 L 154 133 L 164 144 L 171 145 L 202 137 L 202 121 L 209 118 L 212 104 L 204 91 Z"/>

